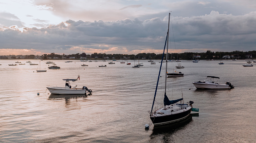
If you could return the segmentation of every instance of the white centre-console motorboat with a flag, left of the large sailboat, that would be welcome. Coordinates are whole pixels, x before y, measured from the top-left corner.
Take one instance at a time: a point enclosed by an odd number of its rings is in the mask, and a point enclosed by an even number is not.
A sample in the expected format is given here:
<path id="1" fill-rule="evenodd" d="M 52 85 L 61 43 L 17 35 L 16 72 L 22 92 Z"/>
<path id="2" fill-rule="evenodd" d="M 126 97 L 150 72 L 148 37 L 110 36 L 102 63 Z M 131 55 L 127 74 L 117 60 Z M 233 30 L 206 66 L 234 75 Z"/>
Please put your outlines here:
<path id="1" fill-rule="evenodd" d="M 88 89 L 86 86 L 83 86 L 82 88 L 77 88 L 77 86 L 72 87 L 70 85 L 70 81 L 77 81 L 80 80 L 80 77 L 78 76 L 77 79 L 63 79 L 66 81 L 66 84 L 64 87 L 59 86 L 48 86 L 46 87 L 51 94 L 85 94 L 86 91 L 92 92 L 91 89 Z"/>

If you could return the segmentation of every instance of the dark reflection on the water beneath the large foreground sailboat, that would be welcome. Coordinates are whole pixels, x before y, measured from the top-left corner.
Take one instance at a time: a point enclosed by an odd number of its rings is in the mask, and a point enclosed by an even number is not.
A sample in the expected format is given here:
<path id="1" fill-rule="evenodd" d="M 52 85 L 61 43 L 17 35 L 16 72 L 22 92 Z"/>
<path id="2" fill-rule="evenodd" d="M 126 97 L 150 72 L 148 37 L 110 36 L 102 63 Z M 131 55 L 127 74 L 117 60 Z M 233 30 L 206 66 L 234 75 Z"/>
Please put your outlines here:
<path id="1" fill-rule="evenodd" d="M 186 128 L 186 126 L 192 121 L 192 115 L 189 115 L 189 118 L 186 120 L 170 124 L 170 125 L 165 125 L 165 126 L 154 126 L 152 130 L 152 134 L 150 135 L 150 142 L 153 140 L 159 140 L 159 137 L 161 138 L 161 141 L 163 143 L 171 143 L 174 142 L 173 140 L 173 134 L 175 132 L 178 132 L 180 130 L 183 130 Z"/>

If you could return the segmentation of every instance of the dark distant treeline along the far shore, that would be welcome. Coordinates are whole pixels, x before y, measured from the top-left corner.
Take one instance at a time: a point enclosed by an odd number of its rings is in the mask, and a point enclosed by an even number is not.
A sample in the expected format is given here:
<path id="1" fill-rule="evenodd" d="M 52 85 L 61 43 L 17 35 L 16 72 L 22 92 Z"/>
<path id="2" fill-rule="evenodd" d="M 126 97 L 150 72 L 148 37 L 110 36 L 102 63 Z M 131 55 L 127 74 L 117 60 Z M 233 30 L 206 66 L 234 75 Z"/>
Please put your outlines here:
<path id="1" fill-rule="evenodd" d="M 139 53 L 135 55 L 135 59 L 161 59 L 163 54 L 155 53 Z M 207 51 L 207 52 L 184 52 L 184 53 L 169 53 L 168 59 L 180 59 L 180 60 L 192 60 L 198 57 L 197 59 L 201 60 L 219 60 L 219 59 L 248 59 L 256 58 L 256 51 L 232 51 L 232 52 L 222 52 L 222 51 Z M 166 57 L 166 55 L 164 55 Z M 38 56 L 35 55 L 26 55 L 23 57 L 12 56 L 12 59 L 35 59 Z M 87 55 L 86 53 L 77 53 L 71 55 L 59 55 L 55 53 L 43 54 L 39 56 L 41 59 L 134 59 L 134 55 L 128 54 L 106 54 L 106 53 L 93 53 Z M 6 59 L 5 56 L 0 56 L 0 59 Z"/>

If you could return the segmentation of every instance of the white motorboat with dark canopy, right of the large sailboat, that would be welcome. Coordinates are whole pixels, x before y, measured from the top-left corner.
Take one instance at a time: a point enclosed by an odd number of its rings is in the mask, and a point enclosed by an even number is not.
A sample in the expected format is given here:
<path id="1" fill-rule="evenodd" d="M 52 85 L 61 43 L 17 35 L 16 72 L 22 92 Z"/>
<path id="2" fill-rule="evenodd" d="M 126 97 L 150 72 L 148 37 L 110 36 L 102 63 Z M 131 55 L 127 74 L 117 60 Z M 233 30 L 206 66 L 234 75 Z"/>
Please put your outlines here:
<path id="1" fill-rule="evenodd" d="M 226 84 L 219 84 L 219 77 L 216 76 L 207 76 L 206 80 L 203 82 L 197 81 L 192 82 L 197 89 L 232 89 L 234 86 L 230 82 Z"/>

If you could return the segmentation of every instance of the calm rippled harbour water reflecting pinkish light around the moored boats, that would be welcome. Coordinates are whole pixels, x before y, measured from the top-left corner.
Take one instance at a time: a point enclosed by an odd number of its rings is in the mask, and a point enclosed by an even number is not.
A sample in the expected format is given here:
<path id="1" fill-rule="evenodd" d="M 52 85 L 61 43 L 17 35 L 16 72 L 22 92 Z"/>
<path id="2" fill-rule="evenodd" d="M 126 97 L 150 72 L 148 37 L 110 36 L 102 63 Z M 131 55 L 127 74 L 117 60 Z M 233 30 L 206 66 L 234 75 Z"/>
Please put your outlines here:
<path id="1" fill-rule="evenodd" d="M 20 60 L 25 63 L 27 60 Z M 8 66 L 14 60 L 0 60 L 0 142 L 2 143 L 255 143 L 256 141 L 256 64 L 243 67 L 244 60 L 182 61 L 184 77 L 168 78 L 169 98 L 194 101 L 199 114 L 172 126 L 145 130 L 150 123 L 153 95 L 160 63 L 143 67 L 108 62 L 54 61 L 61 69 L 48 69 L 46 61 L 37 65 Z M 31 60 L 32 63 L 39 61 Z M 110 61 L 109 61 L 110 62 Z M 141 61 L 140 61 L 141 62 Z M 98 65 L 107 67 L 98 67 Z M 253 64 L 253 63 L 252 63 Z M 169 64 L 177 65 L 177 62 Z M 64 86 L 64 78 L 76 78 L 72 86 L 87 86 L 91 95 L 51 95 L 50 86 Z M 163 72 L 161 75 L 164 75 Z M 229 81 L 232 90 L 196 90 L 193 81 L 207 75 Z M 160 78 L 163 80 L 164 77 Z M 156 101 L 163 102 L 159 85 Z M 193 87 L 191 90 L 189 88 Z M 38 96 L 37 93 L 40 93 Z"/>

